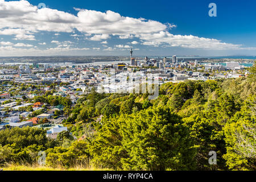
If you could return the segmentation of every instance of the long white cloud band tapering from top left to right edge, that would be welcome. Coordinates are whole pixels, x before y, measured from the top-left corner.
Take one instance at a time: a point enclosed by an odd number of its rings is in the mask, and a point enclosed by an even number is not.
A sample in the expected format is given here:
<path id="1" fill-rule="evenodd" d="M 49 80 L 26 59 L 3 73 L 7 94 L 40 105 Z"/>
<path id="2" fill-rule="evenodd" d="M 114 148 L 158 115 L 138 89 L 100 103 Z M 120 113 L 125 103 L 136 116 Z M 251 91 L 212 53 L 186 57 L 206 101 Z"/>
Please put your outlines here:
<path id="1" fill-rule="evenodd" d="M 28 1 L 0 0 L 0 35 L 14 36 L 14 40 L 35 40 L 40 31 L 82 32 L 88 40 L 101 41 L 117 36 L 119 39 L 138 38 L 146 46 L 184 47 L 196 49 L 246 49 L 242 45 L 193 35 L 173 35 L 175 24 L 155 20 L 131 18 L 113 11 L 102 13 L 76 9 L 77 15 L 31 5 Z M 75 34 L 73 34 L 75 36 Z M 56 43 L 57 42 L 52 42 Z M 136 41 L 133 44 L 137 44 Z M 249 48 L 248 48 L 249 49 Z M 254 49 L 254 48 L 250 48 Z"/>

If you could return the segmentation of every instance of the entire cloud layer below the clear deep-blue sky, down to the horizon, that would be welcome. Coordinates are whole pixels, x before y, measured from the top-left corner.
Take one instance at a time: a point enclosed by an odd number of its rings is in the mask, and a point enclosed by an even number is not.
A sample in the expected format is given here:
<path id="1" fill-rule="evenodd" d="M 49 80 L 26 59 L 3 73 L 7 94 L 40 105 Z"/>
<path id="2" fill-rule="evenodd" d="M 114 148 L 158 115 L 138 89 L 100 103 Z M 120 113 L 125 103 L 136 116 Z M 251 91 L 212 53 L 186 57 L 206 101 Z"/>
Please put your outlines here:
<path id="1" fill-rule="evenodd" d="M 110 10 L 105 13 L 75 10 L 77 15 L 47 7 L 39 9 L 24 0 L 0 0 L 0 56 L 57 55 L 62 52 L 88 50 L 124 51 L 130 46 L 203 50 L 256 49 L 212 38 L 171 34 L 176 24 L 131 18 Z M 46 32 L 52 32 L 55 36 L 49 42 L 42 40 L 42 35 Z M 74 41 L 59 40 L 58 36 L 61 34 L 68 34 Z M 123 44 L 115 44 L 113 41 L 110 44 L 109 40 L 112 39 L 122 40 Z M 95 47 L 95 43 L 93 47 L 89 44 L 84 47 L 79 41 L 96 42 L 98 47 Z"/>

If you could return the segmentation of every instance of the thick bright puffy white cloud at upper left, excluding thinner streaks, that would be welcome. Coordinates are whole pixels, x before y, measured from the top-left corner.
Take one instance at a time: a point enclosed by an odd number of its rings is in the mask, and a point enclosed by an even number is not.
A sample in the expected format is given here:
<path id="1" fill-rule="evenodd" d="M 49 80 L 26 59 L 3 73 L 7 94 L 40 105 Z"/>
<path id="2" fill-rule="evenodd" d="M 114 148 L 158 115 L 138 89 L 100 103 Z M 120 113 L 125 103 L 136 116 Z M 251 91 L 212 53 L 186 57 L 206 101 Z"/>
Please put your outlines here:
<path id="1" fill-rule="evenodd" d="M 72 15 L 49 8 L 38 9 L 28 1 L 0 0 L 0 31 L 22 30 L 9 35 L 19 35 L 16 39 L 34 40 L 31 34 L 38 31 L 72 32 L 77 29 L 85 34 L 93 34 L 91 40 L 101 40 L 110 38 L 109 35 L 131 38 L 167 28 L 154 20 L 125 17 L 113 11 L 76 10 L 77 15 Z"/>

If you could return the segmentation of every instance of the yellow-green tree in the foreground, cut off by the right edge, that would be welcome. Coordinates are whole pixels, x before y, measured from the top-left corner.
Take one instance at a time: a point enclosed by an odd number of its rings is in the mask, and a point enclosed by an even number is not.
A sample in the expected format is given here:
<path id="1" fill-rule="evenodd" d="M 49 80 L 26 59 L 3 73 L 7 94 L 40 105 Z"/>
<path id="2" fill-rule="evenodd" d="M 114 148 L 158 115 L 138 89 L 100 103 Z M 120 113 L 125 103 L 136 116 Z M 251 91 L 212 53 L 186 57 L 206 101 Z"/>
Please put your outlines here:
<path id="1" fill-rule="evenodd" d="M 229 169 L 255 170 L 256 166 L 256 96 L 249 97 L 241 111 L 224 127 L 226 154 Z"/>

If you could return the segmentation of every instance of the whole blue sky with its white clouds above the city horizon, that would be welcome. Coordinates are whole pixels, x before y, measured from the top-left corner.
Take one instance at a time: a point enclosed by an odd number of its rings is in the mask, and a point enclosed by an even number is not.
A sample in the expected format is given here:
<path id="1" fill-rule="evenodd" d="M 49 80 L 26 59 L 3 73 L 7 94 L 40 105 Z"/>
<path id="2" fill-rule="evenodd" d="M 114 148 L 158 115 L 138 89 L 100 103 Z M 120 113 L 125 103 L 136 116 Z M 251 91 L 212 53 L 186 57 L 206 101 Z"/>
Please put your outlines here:
<path id="1" fill-rule="evenodd" d="M 217 17 L 210 17 L 209 3 Z M 46 8 L 40 9 L 39 3 Z M 0 56 L 256 55 L 256 1 L 3 1 Z"/>

